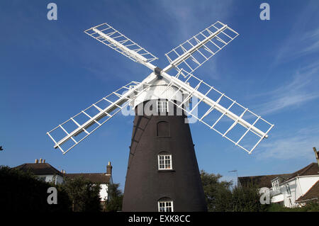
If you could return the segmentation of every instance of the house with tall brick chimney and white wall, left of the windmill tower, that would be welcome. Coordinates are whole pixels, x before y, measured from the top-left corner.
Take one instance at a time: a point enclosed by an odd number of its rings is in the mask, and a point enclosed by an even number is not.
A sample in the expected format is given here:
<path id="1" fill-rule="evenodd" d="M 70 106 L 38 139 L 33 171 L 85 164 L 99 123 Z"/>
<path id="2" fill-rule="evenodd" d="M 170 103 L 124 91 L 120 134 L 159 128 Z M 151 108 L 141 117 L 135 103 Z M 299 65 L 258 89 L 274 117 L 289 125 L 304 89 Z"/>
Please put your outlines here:
<path id="1" fill-rule="evenodd" d="M 112 166 L 111 162 L 108 162 L 106 166 L 106 173 L 95 173 L 95 174 L 65 174 L 69 179 L 74 179 L 80 176 L 83 176 L 86 179 L 89 179 L 92 183 L 99 183 L 101 186 L 100 198 L 102 202 L 108 200 L 108 188 L 113 183 L 112 179 Z"/>

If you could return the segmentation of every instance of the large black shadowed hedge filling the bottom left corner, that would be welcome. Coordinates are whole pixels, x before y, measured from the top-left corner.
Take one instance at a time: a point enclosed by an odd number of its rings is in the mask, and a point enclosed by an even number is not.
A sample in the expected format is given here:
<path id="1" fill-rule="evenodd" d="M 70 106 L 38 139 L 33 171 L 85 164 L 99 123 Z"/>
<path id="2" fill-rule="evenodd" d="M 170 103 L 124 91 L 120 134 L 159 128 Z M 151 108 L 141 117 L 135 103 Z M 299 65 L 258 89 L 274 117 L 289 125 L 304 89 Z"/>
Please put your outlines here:
<path id="1" fill-rule="evenodd" d="M 47 188 L 52 185 L 39 181 L 30 172 L 0 166 L 0 209 L 6 211 L 69 211 L 70 201 L 63 189 L 57 188 L 57 204 L 47 203 Z"/>

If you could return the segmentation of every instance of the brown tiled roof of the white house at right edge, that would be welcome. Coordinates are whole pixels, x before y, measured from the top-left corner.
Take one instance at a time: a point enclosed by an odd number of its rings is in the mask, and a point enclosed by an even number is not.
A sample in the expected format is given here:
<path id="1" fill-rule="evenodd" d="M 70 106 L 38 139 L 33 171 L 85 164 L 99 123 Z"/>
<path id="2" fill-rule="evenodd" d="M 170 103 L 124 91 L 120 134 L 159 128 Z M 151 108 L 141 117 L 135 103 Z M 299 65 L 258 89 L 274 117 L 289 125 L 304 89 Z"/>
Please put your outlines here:
<path id="1" fill-rule="evenodd" d="M 264 175 L 264 176 L 240 176 L 238 181 L 242 186 L 247 186 L 249 183 L 254 183 L 258 188 L 271 188 L 272 180 L 276 177 L 281 177 L 284 181 L 288 181 L 296 176 L 309 176 L 309 175 L 318 175 L 319 167 L 317 163 L 311 163 L 308 166 L 300 169 L 292 174 L 274 174 L 274 175 Z"/>

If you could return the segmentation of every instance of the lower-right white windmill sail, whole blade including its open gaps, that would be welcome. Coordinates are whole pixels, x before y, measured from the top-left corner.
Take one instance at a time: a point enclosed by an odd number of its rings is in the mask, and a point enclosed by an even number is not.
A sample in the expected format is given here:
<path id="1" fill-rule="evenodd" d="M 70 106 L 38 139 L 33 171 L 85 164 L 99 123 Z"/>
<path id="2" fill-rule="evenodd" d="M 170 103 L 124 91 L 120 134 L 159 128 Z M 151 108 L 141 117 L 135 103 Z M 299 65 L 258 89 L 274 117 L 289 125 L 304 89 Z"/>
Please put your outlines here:
<path id="1" fill-rule="evenodd" d="M 268 137 L 268 132 L 274 125 L 193 74 L 188 74 L 187 77 L 180 77 L 180 74 L 172 77 L 166 72 L 161 73 L 169 81 L 167 89 L 175 86 L 176 92 L 185 94 L 181 103 L 174 101 L 175 94 L 168 101 L 250 154 L 259 142 Z M 186 108 L 185 103 L 194 97 L 198 101 Z"/>

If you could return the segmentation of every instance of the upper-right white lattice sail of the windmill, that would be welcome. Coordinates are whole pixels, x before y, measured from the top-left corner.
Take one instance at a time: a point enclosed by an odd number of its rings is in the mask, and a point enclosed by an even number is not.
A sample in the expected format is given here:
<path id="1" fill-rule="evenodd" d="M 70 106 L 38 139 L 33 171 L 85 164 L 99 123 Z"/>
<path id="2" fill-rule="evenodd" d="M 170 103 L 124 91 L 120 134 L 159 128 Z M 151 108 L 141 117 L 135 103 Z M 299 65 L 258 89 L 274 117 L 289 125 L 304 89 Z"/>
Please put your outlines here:
<path id="1" fill-rule="evenodd" d="M 192 73 L 238 35 L 235 30 L 217 21 L 167 52 L 165 56 L 169 60 L 169 66 L 164 69 L 164 72 L 175 67 L 181 74 L 184 74 L 185 71 Z"/>

